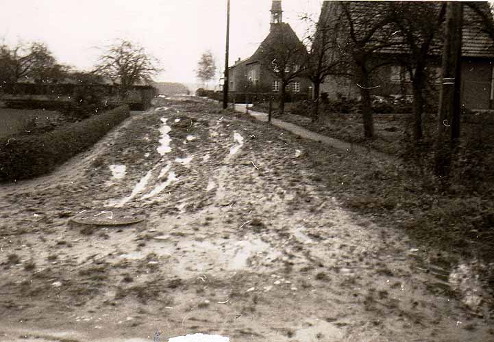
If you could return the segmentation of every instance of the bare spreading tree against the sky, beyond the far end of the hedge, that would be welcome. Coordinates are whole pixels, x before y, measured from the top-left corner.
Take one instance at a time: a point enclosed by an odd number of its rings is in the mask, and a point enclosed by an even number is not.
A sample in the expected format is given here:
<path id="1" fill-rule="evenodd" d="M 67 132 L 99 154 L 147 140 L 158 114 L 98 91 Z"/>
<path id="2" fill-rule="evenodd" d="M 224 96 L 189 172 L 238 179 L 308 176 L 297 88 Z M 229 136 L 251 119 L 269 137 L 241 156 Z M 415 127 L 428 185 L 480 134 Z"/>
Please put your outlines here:
<path id="1" fill-rule="evenodd" d="M 151 77 L 161 70 L 158 60 L 146 53 L 143 47 L 119 40 L 99 57 L 94 73 L 108 77 L 119 86 L 121 97 L 126 98 L 132 86 L 139 82 L 151 83 Z"/>

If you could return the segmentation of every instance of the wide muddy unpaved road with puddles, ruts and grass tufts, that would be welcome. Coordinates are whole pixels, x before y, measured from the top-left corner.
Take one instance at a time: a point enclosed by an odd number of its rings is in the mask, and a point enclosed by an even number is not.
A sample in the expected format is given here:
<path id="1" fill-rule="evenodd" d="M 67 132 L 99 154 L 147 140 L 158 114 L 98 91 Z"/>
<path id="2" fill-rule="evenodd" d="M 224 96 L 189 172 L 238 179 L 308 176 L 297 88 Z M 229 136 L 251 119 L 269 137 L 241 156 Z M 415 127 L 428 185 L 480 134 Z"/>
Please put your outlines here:
<path id="1" fill-rule="evenodd" d="M 375 161 L 156 101 L 0 185 L 0 341 L 494 340 L 478 267 L 343 209 L 330 179 Z"/>

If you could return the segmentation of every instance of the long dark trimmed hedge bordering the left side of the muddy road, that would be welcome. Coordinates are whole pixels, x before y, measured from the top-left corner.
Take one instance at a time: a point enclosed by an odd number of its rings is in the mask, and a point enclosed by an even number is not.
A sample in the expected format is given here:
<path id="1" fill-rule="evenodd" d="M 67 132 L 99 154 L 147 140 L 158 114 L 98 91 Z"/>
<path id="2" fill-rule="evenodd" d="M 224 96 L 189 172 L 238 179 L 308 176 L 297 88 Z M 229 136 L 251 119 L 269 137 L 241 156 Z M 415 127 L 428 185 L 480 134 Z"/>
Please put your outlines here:
<path id="1" fill-rule="evenodd" d="M 0 182 L 46 174 L 90 148 L 129 117 L 123 105 L 80 122 L 35 135 L 14 135 L 0 141 Z"/>

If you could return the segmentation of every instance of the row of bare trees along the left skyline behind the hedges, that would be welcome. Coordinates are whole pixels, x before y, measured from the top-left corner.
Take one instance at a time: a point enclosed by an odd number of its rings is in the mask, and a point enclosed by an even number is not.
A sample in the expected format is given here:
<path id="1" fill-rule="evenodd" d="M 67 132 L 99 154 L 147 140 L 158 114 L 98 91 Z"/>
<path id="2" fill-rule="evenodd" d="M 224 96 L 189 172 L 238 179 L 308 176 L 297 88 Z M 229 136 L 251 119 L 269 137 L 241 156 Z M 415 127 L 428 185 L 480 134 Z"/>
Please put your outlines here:
<path id="1" fill-rule="evenodd" d="M 121 98 L 127 98 L 134 85 L 152 83 L 162 69 L 143 47 L 128 40 L 118 40 L 101 49 L 93 70 L 81 71 L 58 62 L 42 42 L 0 45 L 0 86 L 2 83 L 112 83 Z"/>

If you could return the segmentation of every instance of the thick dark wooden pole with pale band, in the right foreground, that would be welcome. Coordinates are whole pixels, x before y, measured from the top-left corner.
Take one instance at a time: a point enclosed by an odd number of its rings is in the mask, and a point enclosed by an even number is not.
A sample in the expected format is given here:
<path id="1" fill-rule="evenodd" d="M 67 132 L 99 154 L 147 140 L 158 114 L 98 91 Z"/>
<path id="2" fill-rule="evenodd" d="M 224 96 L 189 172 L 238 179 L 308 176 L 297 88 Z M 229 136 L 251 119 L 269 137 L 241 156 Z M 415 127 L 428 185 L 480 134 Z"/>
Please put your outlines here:
<path id="1" fill-rule="evenodd" d="M 443 46 L 443 84 L 439 98 L 436 174 L 448 176 L 454 147 L 460 137 L 462 3 L 447 3 Z"/>

